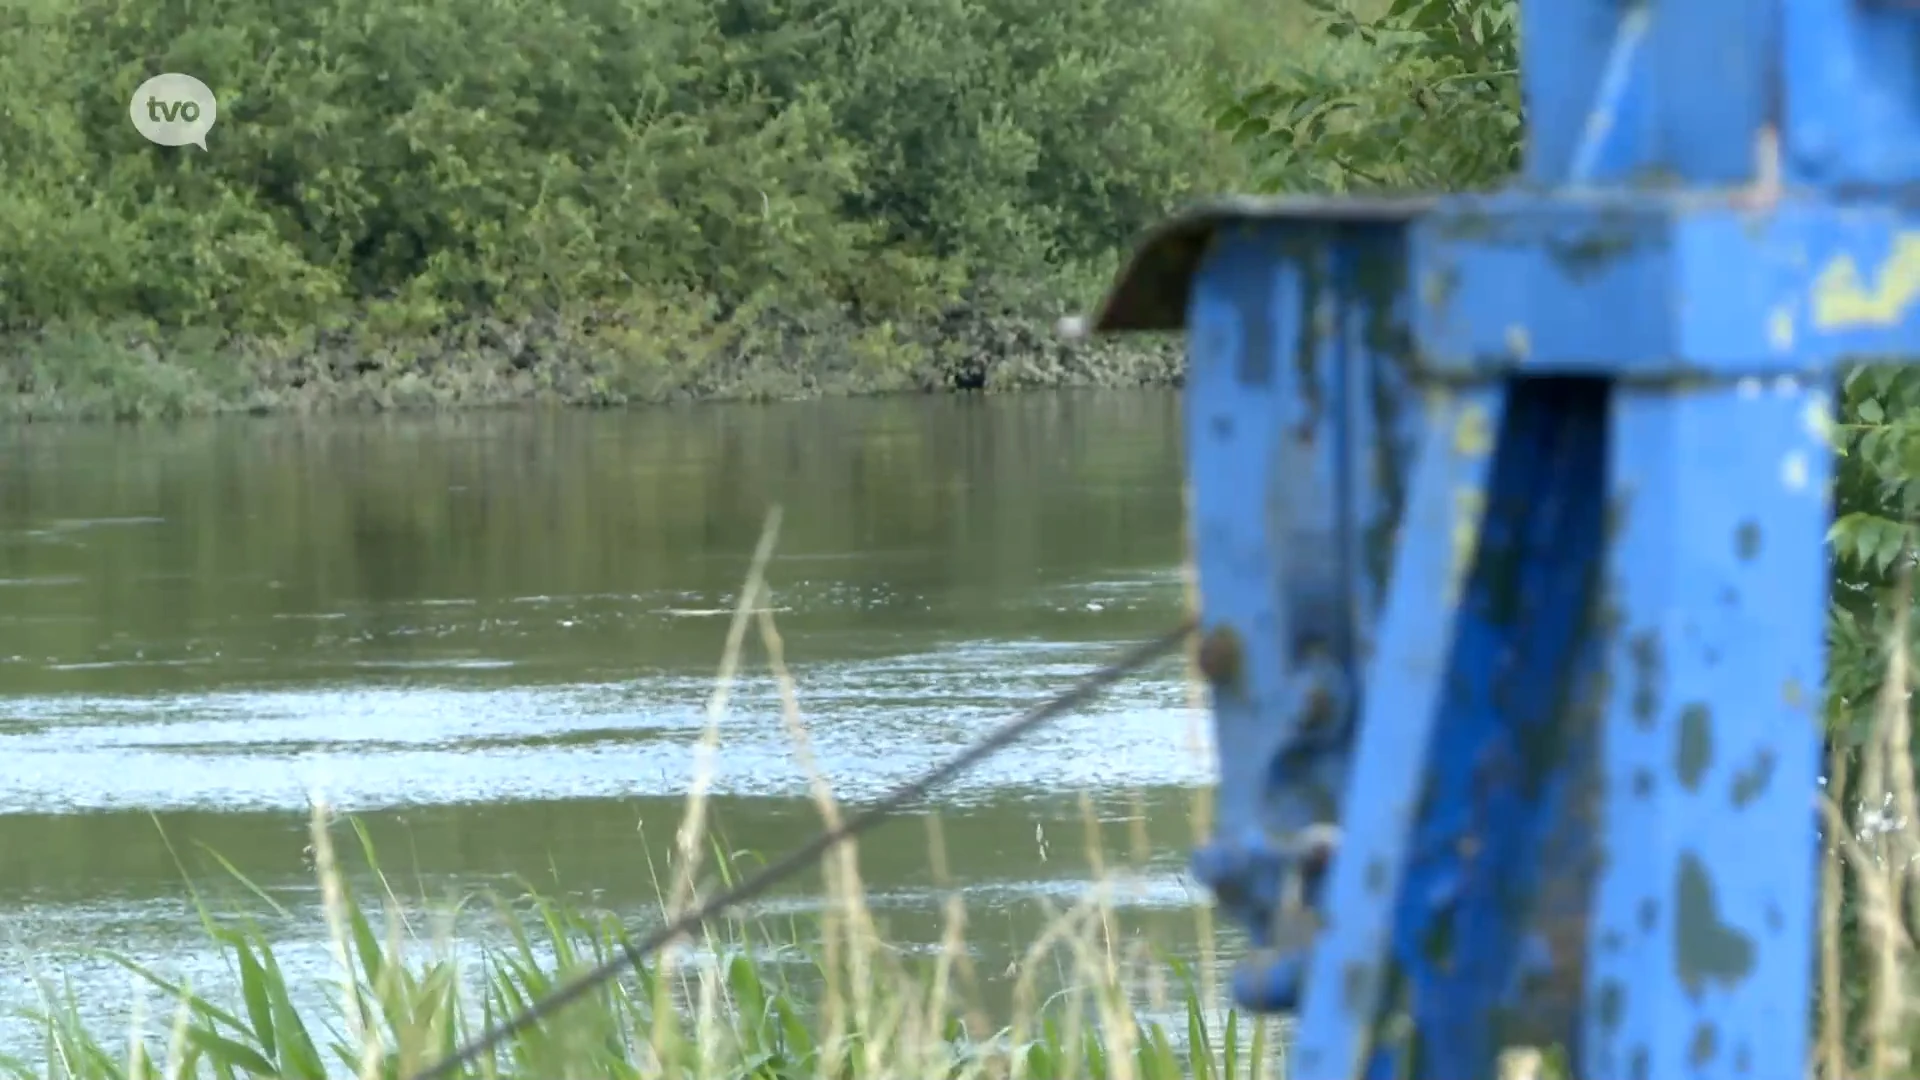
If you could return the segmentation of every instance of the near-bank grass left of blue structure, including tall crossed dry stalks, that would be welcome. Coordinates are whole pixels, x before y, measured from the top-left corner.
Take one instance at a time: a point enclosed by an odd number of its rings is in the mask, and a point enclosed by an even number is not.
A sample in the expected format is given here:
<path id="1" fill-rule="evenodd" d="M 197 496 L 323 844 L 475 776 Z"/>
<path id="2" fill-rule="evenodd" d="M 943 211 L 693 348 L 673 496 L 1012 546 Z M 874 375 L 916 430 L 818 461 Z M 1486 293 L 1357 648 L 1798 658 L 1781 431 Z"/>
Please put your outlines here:
<path id="1" fill-rule="evenodd" d="M 728 630 L 701 736 L 701 773 L 689 784 L 674 855 L 659 882 L 668 919 L 712 886 L 732 884 L 733 861 L 708 834 L 707 780 L 753 628 L 822 822 L 841 821 L 814 767 L 799 690 L 766 601 L 764 571 L 778 528 L 774 511 Z M 1092 826 L 1091 805 L 1087 817 Z M 163 1011 L 136 1013 L 131 1032 L 111 1034 L 90 1026 L 77 994 L 48 978 L 35 1011 L 38 1053 L 0 1059 L 0 1072 L 23 1080 L 401 1080 L 632 944 L 611 913 L 534 890 L 440 909 L 403 901 L 361 824 L 351 822 L 357 844 L 344 853 L 328 821 L 324 801 L 315 799 L 313 863 L 332 949 L 330 986 L 296 986 L 255 919 L 219 915 L 194 890 L 205 934 L 232 972 L 232 994 L 217 999 L 113 957 L 157 992 Z M 1210 1026 L 1213 997 L 1204 988 L 1213 986 L 1212 974 L 1164 963 L 1146 944 L 1116 934 L 1114 901 L 1125 874 L 1106 865 L 1096 828 L 1089 834 L 1096 882 L 1077 903 L 1054 911 L 1010 969 L 1014 1007 L 1004 1022 L 981 1005 L 958 894 L 947 899 L 933 955 L 912 957 L 883 940 L 864 899 L 858 847 L 847 844 L 822 867 L 818 917 L 735 913 L 708 922 L 699 940 L 678 942 L 459 1074 L 1227 1080 L 1279 1070 L 1267 1022 L 1248 1024 L 1229 1011 L 1219 1030 Z M 945 880 L 937 819 L 927 840 L 933 871 Z M 1144 836 L 1139 842 L 1144 846 Z M 357 855 L 359 872 L 348 872 L 346 855 Z M 238 869 L 227 865 L 227 872 L 286 915 Z M 476 940 L 492 944 L 472 945 Z M 1171 1007 L 1183 1015 L 1183 1032 L 1142 1015 L 1135 1005 L 1142 988 L 1156 1013 Z"/>

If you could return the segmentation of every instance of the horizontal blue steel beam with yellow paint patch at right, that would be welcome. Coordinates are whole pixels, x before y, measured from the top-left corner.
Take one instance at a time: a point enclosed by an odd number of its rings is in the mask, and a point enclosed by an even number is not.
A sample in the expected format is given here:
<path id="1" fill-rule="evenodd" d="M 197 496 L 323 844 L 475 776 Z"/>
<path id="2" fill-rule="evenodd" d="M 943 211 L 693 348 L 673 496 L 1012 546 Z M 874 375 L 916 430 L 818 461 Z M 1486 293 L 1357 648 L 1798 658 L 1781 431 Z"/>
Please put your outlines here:
<path id="1" fill-rule="evenodd" d="M 1920 211 L 1745 194 L 1457 196 L 1413 227 L 1421 369 L 1818 377 L 1920 342 Z"/>

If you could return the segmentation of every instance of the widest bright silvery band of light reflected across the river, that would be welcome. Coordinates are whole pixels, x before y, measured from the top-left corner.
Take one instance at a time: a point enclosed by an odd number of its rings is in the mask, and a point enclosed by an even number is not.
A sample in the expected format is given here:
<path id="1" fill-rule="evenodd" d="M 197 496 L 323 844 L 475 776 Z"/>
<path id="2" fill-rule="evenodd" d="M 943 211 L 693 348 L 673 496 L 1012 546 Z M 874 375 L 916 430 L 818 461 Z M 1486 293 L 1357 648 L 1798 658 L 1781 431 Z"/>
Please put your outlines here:
<path id="1" fill-rule="evenodd" d="M 1012 711 L 1087 675 L 1110 650 L 954 644 L 804 671 L 820 773 L 866 799 L 925 773 Z M 1014 665 L 1020 667 L 1014 667 Z M 950 799 L 1020 790 L 1204 782 L 1206 761 L 1169 732 L 1190 717 L 1175 671 L 1123 686 L 1100 713 L 1062 719 L 1020 755 L 991 759 Z M 407 803 L 674 796 L 693 771 L 710 675 L 532 688 L 346 686 L 157 700 L 21 698 L 0 813 L 46 809 L 298 809 L 315 788 L 342 809 Z M 764 676 L 735 684 L 714 763 L 718 792 L 799 796 L 780 701 Z M 1098 746 L 1100 753 L 1083 749 Z M 236 763 L 244 765 L 236 769 Z"/>

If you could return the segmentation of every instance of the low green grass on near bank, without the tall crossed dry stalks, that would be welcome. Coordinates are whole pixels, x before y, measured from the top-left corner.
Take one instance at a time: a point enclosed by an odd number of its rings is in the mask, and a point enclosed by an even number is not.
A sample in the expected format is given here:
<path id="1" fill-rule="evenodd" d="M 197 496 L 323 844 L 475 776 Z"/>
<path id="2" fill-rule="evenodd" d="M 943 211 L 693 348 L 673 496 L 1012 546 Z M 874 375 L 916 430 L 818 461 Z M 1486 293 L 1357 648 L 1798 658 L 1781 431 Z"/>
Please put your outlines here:
<path id="1" fill-rule="evenodd" d="M 361 844 L 372 861 L 365 834 Z M 296 1005 L 300 988 L 267 932 L 246 919 L 207 915 L 209 936 L 234 967 L 236 999 L 211 999 L 121 961 L 159 992 L 165 1007 L 150 1022 L 134 1019 L 136 1028 L 163 1028 L 159 1038 L 102 1036 L 83 1020 L 71 990 L 50 984 L 38 1017 L 44 1065 L 15 1057 L 6 1070 L 75 1080 L 411 1076 L 626 944 L 611 915 L 528 896 L 495 909 L 493 922 L 509 944 L 488 947 L 463 976 L 449 920 L 422 934 L 422 915 L 407 911 L 384 876 L 376 892 L 386 917 L 376 920 L 346 888 L 336 853 L 323 847 L 317 861 L 342 972 L 324 1015 Z M 843 886 L 835 892 L 851 896 Z M 820 919 L 818 938 L 801 919 L 708 930 L 697 947 L 662 955 L 637 978 L 570 1005 L 511 1040 L 492 1068 L 461 1076 L 1273 1074 L 1267 1028 L 1248 1036 L 1229 1017 L 1223 1032 L 1212 1032 L 1192 984 L 1179 994 L 1196 1053 L 1160 1022 L 1140 1020 L 1119 984 L 1119 957 L 1106 951 L 1106 915 L 1104 903 L 1091 899 L 1035 942 L 1020 965 L 1016 1019 L 998 1030 L 979 1026 L 970 1005 L 962 917 L 948 919 L 937 957 L 916 963 L 879 940 L 858 901 L 841 901 Z M 787 963 L 768 963 L 768 953 Z M 1062 955 L 1075 986 L 1043 999 L 1039 986 Z"/>

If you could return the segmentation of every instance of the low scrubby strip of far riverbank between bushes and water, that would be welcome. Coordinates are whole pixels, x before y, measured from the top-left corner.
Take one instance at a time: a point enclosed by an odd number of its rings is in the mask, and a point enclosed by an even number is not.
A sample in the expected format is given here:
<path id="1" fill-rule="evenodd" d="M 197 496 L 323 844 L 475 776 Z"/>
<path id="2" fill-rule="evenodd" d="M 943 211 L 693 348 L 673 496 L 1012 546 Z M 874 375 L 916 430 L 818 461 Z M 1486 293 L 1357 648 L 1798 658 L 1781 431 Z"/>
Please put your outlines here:
<path id="1" fill-rule="evenodd" d="M 1179 342 L 1068 342 L 1035 311 L 952 306 L 914 323 L 735 311 L 693 302 L 392 332 L 161 331 L 138 321 L 0 338 L 10 421 L 219 413 L 616 407 L 687 400 L 1177 384 Z"/>

